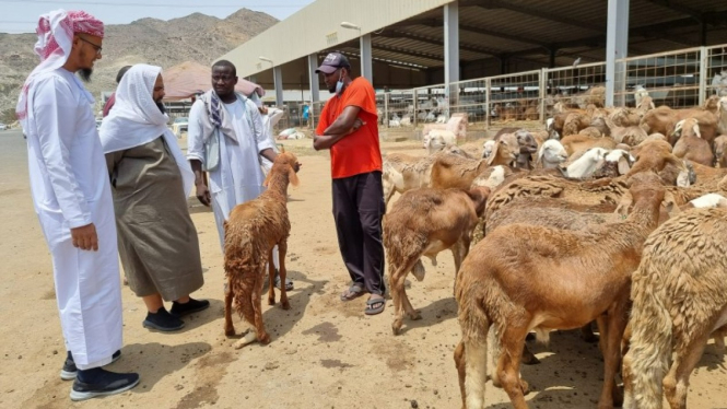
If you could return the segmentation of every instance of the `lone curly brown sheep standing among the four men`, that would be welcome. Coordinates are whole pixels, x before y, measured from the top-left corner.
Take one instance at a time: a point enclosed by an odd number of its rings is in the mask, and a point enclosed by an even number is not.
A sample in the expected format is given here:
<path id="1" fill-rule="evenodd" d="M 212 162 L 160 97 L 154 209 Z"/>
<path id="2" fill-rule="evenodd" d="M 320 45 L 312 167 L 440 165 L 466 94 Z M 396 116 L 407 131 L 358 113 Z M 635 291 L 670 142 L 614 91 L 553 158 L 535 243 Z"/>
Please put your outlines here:
<path id="1" fill-rule="evenodd" d="M 235 343 L 239 349 L 255 341 L 268 343 L 270 335 L 265 330 L 260 305 L 265 267 L 269 269 L 268 304 L 275 304 L 274 266 L 272 248 L 278 246 L 280 259 L 280 281 L 285 282 L 285 252 L 291 223 L 288 219 L 288 185 L 297 186 L 295 174 L 297 159 L 290 152 L 275 157 L 268 173 L 265 186 L 268 187 L 257 199 L 237 204 L 224 222 L 224 269 L 227 278 L 225 288 L 224 332 L 235 335 L 232 324 L 232 302 L 237 313 L 253 326 L 253 330 Z M 280 303 L 290 309 L 285 285 L 281 285 Z"/>

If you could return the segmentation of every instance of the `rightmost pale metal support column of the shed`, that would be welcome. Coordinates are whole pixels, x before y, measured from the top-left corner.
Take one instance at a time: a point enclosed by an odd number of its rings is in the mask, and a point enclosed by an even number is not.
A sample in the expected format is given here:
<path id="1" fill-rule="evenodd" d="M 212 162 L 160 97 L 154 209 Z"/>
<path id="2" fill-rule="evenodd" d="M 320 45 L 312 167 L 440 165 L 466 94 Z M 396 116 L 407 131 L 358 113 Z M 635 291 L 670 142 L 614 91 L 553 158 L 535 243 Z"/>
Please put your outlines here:
<path id="1" fill-rule="evenodd" d="M 629 55 L 629 2 L 608 0 L 606 106 L 625 105 L 626 65 L 623 59 Z"/>

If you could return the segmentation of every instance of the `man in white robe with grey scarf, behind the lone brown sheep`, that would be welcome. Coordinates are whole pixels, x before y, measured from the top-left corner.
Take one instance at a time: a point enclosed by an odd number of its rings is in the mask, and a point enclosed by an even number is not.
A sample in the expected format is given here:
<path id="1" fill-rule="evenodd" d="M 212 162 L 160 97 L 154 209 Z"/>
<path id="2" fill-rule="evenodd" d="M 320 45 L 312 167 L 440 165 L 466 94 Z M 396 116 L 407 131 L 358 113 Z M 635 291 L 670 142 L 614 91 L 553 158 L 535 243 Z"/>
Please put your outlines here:
<path id="1" fill-rule="evenodd" d="M 278 155 L 256 104 L 235 93 L 236 83 L 235 66 L 216 61 L 212 66 L 212 90 L 192 105 L 187 130 L 187 159 L 195 172 L 197 198 L 212 206 L 223 249 L 224 222 L 232 209 L 265 190 L 259 156 L 273 162 Z M 203 172 L 208 172 L 209 187 Z M 292 281 L 285 287 L 292 290 Z"/>

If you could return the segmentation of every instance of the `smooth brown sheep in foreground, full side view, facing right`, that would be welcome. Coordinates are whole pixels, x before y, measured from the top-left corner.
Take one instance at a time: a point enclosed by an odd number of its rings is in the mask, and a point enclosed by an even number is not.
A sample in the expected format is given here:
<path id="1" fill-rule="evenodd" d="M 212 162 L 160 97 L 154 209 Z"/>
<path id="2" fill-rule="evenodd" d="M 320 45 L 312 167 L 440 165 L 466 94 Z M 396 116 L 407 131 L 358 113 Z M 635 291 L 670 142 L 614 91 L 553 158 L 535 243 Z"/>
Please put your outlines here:
<path id="1" fill-rule="evenodd" d="M 462 331 L 455 360 L 467 408 L 484 408 L 491 326 L 503 348 L 493 383 L 502 385 L 515 408 L 524 409 L 528 385 L 519 377 L 519 364 L 528 331 L 535 329 L 544 339 L 549 330 L 582 327 L 596 318 L 608 328 L 599 408 L 619 404 L 614 376 L 631 273 L 638 267 L 646 236 L 657 226 L 665 197 L 653 173 L 632 177 L 629 190 L 631 214 L 608 229 L 570 232 L 512 224 L 493 231 L 470 250 L 455 282 Z"/>

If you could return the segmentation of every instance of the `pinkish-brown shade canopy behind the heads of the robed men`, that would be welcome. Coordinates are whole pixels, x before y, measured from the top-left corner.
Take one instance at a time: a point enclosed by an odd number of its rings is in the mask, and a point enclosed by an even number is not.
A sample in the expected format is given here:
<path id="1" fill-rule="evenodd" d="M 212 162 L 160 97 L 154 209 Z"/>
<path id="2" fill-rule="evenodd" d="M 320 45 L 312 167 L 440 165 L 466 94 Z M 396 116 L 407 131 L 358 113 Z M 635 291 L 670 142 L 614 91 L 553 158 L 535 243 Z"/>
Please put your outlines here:
<path id="1" fill-rule="evenodd" d="M 207 92 L 212 87 L 211 68 L 194 61 L 185 61 L 162 71 L 164 78 L 164 101 L 178 101 Z M 238 79 L 235 91 L 251 95 L 265 95 L 265 90 L 250 81 Z"/>

